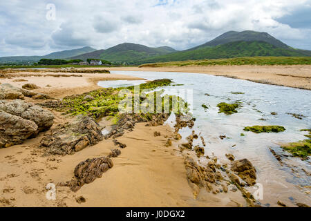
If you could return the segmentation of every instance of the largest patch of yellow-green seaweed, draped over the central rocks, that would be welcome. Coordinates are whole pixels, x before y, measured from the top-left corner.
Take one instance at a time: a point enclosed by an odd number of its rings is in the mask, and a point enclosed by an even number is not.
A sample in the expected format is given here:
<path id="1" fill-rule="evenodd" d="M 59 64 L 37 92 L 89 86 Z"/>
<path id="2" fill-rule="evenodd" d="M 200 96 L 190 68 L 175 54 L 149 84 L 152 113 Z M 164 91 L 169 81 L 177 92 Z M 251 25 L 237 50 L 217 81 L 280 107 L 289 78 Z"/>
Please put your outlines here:
<path id="1" fill-rule="evenodd" d="M 156 93 L 149 93 L 145 94 L 142 93 L 142 90 L 152 90 L 154 88 L 160 87 L 160 86 L 168 86 L 171 84 L 170 79 L 158 79 L 154 81 L 149 81 L 144 84 L 140 84 L 140 99 L 137 101 L 138 104 L 142 105 L 145 101 L 147 101 L 149 98 L 149 95 L 153 94 L 154 97 L 154 110 L 157 110 L 156 108 Z M 62 101 L 62 108 L 59 108 L 59 111 L 66 111 L 67 114 L 70 115 L 88 115 L 93 117 L 94 119 L 101 119 L 102 117 L 111 116 L 113 119 L 113 123 L 117 122 L 118 117 L 120 115 L 119 112 L 119 105 L 122 102 L 122 100 L 126 97 L 126 95 L 119 96 L 119 92 L 122 89 L 127 89 L 133 95 L 134 93 L 134 86 L 129 87 L 120 87 L 120 88 L 101 88 L 98 90 L 93 90 L 88 93 L 83 93 L 82 95 L 71 95 L 68 97 L 64 97 Z M 89 95 L 93 97 L 94 99 L 85 99 L 86 95 Z M 157 94 L 158 95 L 158 94 Z M 132 96 L 132 111 L 134 111 L 134 105 L 135 102 L 135 96 Z M 184 102 L 180 97 L 177 96 L 169 96 L 164 95 L 162 96 L 161 101 L 161 111 L 163 113 L 164 111 L 164 103 L 169 102 L 169 111 L 172 111 L 176 106 L 178 110 L 178 114 L 180 111 L 183 111 L 183 113 L 187 113 L 188 104 L 187 102 Z M 146 103 L 146 102 L 145 102 Z M 175 105 L 175 106 L 174 106 Z M 183 109 L 180 108 L 180 106 L 185 107 Z M 176 110 L 174 109 L 174 110 Z M 145 113 L 143 113 L 145 114 Z M 151 114 L 152 115 L 152 114 Z"/>

